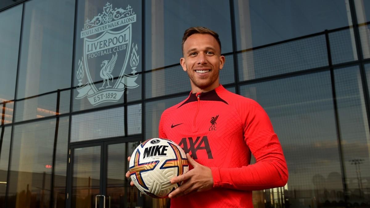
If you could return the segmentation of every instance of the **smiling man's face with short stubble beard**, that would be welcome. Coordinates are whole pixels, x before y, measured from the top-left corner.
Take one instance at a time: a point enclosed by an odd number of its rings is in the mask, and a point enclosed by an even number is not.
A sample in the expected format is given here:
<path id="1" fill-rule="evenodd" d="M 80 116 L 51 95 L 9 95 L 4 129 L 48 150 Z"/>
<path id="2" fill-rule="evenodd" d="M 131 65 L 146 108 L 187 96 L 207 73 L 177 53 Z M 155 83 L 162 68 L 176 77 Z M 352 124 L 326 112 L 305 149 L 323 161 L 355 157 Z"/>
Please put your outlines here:
<path id="1" fill-rule="evenodd" d="M 188 73 L 193 93 L 208 92 L 219 86 L 219 70 L 225 63 L 216 38 L 192 34 L 184 43 L 182 69 Z"/>

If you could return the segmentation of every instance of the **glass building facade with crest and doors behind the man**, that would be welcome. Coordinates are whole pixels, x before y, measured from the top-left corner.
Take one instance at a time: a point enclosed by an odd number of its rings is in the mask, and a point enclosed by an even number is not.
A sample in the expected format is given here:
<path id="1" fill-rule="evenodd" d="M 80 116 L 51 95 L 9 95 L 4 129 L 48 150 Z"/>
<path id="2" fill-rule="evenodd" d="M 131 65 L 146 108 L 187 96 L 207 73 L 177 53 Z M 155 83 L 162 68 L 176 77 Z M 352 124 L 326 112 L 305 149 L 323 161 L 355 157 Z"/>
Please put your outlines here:
<path id="1" fill-rule="evenodd" d="M 369 20 L 366 0 L 1 1 L 0 208 L 169 207 L 126 158 L 191 90 L 192 26 L 219 33 L 220 83 L 282 144 L 289 180 L 254 207 L 370 207 Z"/>

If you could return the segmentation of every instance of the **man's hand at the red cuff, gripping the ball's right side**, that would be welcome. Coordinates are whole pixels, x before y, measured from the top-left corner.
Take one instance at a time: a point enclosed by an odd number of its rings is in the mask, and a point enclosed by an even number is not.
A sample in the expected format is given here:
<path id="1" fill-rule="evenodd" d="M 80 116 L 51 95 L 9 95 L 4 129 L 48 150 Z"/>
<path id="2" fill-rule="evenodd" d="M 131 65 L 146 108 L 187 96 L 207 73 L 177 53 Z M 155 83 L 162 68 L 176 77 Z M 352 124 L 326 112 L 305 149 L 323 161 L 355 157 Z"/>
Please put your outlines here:
<path id="1" fill-rule="evenodd" d="M 213 187 L 211 168 L 195 162 L 195 160 L 190 157 L 189 153 L 186 154 L 186 158 L 188 158 L 189 164 L 191 164 L 194 169 L 171 179 L 171 184 L 183 182 L 181 186 L 168 195 L 169 198 L 180 197 L 190 192 L 207 191 Z"/>

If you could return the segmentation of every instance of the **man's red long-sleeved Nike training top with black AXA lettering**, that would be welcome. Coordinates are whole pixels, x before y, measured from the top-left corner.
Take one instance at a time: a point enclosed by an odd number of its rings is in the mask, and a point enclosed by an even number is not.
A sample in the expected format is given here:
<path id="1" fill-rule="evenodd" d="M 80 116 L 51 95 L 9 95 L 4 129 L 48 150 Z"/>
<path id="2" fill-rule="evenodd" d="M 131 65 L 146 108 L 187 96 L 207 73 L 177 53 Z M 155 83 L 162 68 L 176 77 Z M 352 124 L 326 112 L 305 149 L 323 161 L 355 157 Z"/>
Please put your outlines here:
<path id="1" fill-rule="evenodd" d="M 176 142 L 212 170 L 211 190 L 171 199 L 171 207 L 252 208 L 253 190 L 287 182 L 283 150 L 266 112 L 256 101 L 222 85 L 206 93 L 190 93 L 165 110 L 159 137 Z M 256 158 L 253 165 L 249 165 L 251 153 Z"/>

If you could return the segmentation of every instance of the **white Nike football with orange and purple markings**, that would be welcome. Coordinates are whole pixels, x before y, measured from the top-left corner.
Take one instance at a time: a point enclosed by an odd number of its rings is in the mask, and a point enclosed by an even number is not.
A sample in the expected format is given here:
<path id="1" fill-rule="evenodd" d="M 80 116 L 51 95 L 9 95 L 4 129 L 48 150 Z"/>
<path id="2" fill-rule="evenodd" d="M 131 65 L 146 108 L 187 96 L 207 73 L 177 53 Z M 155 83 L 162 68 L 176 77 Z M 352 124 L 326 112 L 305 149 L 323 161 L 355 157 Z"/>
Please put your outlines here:
<path id="1" fill-rule="evenodd" d="M 173 177 L 188 172 L 186 154 L 179 145 L 167 139 L 152 138 L 132 152 L 129 171 L 131 180 L 144 194 L 165 198 L 180 184 Z"/>

